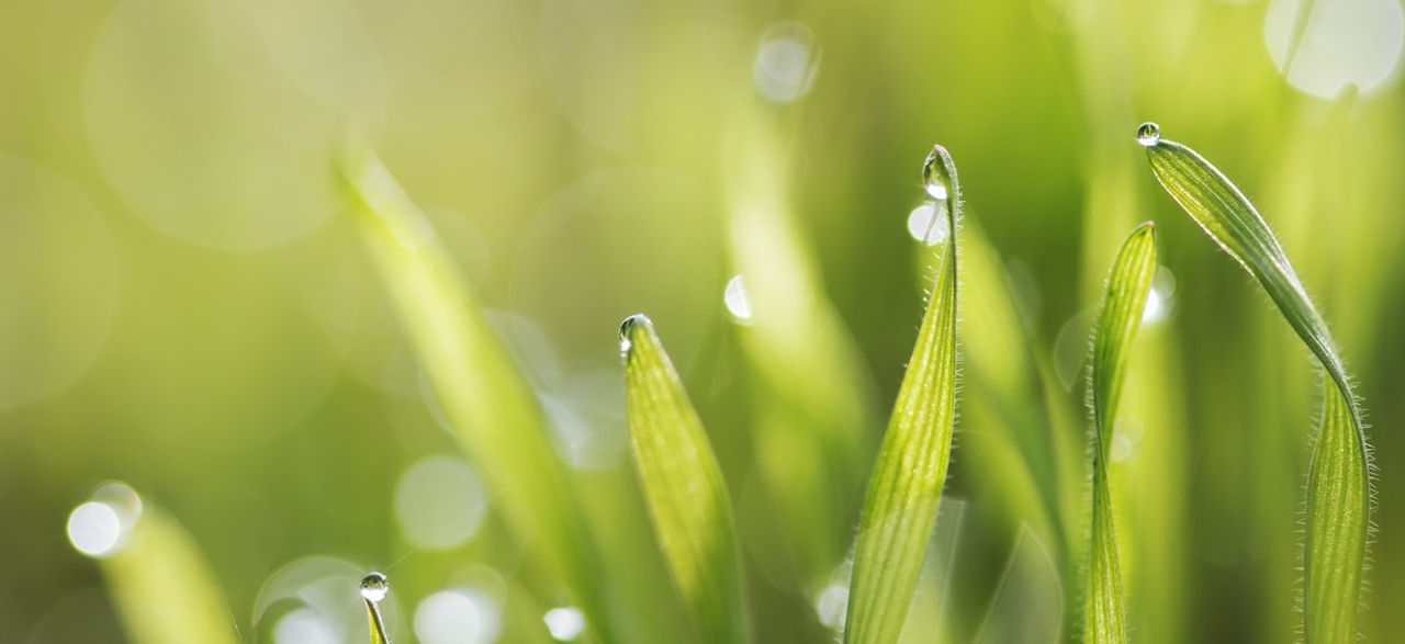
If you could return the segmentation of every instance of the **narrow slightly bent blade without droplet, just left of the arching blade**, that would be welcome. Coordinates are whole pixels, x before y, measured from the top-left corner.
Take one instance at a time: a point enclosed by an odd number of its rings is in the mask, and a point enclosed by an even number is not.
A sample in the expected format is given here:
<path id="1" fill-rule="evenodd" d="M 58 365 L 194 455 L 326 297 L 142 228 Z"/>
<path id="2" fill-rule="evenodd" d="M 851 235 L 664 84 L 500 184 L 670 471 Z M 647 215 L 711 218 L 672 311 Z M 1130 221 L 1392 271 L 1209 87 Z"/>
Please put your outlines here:
<path id="1" fill-rule="evenodd" d="M 1103 311 L 1093 334 L 1093 536 L 1083 603 L 1083 641 L 1089 644 L 1127 641 L 1127 602 L 1113 526 L 1107 460 L 1128 347 L 1141 327 L 1155 274 L 1156 232 L 1151 223 L 1144 223 L 1127 237 L 1113 260 Z"/>

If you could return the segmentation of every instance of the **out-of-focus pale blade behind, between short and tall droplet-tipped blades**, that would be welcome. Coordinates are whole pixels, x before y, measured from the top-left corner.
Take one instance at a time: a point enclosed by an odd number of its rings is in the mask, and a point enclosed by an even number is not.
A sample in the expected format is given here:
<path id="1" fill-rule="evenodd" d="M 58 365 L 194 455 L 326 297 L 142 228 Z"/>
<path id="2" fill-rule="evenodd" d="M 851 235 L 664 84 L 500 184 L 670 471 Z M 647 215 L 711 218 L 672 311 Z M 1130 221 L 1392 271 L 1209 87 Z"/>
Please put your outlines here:
<path id="1" fill-rule="evenodd" d="M 743 519 L 773 526 L 750 530 L 747 546 L 767 577 L 809 592 L 851 546 L 874 446 L 873 383 L 806 241 L 815 213 L 797 216 L 795 123 L 746 111 L 729 129 L 729 255 L 752 309 L 736 338 L 756 400 L 766 401 L 753 407 L 752 436 L 769 501 L 754 507 L 773 508 Z"/>

